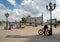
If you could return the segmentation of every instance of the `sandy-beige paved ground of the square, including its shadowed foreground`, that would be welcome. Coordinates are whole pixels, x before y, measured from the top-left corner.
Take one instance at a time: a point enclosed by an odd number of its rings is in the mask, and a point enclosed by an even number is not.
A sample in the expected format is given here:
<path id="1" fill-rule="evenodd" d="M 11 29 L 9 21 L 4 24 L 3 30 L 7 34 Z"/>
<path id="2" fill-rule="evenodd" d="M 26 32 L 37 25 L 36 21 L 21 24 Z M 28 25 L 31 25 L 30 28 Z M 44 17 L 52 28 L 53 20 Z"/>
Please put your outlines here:
<path id="1" fill-rule="evenodd" d="M 42 26 L 26 26 L 24 29 L 4 30 L 0 27 L 0 42 L 60 42 L 60 27 L 53 27 L 52 36 L 38 35 Z"/>

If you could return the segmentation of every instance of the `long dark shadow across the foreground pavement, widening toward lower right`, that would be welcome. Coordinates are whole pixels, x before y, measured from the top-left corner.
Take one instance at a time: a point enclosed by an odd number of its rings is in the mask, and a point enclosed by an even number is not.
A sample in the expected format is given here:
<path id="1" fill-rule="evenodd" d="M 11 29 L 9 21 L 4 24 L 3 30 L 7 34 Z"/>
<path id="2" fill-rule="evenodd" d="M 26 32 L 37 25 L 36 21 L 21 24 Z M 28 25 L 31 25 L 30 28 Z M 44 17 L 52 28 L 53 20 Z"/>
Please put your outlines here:
<path id="1" fill-rule="evenodd" d="M 60 34 L 54 34 L 52 36 L 42 36 L 42 35 L 30 35 L 30 36 L 20 36 L 20 35 L 7 35 L 6 38 L 26 38 L 27 42 L 60 42 Z"/>

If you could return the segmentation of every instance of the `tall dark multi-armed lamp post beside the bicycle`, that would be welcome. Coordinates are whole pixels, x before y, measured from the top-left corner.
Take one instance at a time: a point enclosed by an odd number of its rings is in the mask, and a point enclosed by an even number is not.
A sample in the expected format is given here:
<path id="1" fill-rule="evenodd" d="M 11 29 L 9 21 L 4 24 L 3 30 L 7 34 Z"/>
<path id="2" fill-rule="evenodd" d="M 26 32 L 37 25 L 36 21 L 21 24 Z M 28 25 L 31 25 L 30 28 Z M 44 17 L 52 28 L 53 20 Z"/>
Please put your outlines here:
<path id="1" fill-rule="evenodd" d="M 46 9 L 48 11 L 50 11 L 50 32 L 49 35 L 52 35 L 52 11 L 55 9 L 56 4 L 52 4 L 51 2 L 49 3 L 49 5 L 46 5 Z"/>

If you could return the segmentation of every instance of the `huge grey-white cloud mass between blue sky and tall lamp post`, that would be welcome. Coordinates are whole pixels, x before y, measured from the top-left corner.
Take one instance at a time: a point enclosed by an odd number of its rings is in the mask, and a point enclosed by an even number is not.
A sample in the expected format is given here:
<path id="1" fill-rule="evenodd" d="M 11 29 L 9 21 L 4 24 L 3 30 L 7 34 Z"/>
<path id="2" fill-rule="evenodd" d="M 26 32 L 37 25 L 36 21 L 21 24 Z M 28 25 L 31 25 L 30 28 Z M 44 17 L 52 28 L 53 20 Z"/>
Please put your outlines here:
<path id="1" fill-rule="evenodd" d="M 51 1 L 51 0 L 50 0 Z M 44 20 L 49 17 L 49 13 L 47 12 L 46 5 L 50 2 L 48 0 L 23 0 L 22 3 L 17 6 L 16 9 L 13 10 L 14 16 L 23 17 L 27 15 L 31 16 L 40 16 L 42 12 L 44 12 Z M 52 0 L 55 2 L 55 0 Z"/>

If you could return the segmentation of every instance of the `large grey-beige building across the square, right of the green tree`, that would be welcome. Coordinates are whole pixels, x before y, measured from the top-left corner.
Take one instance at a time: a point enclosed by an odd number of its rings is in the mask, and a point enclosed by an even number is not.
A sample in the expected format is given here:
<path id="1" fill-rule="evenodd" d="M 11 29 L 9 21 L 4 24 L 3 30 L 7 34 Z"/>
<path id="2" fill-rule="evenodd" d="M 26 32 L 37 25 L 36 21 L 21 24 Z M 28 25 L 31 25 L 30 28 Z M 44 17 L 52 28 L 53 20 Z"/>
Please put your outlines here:
<path id="1" fill-rule="evenodd" d="M 28 17 L 27 18 L 27 23 L 32 23 L 32 24 L 42 24 L 42 16 L 40 17 Z"/>

